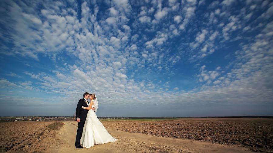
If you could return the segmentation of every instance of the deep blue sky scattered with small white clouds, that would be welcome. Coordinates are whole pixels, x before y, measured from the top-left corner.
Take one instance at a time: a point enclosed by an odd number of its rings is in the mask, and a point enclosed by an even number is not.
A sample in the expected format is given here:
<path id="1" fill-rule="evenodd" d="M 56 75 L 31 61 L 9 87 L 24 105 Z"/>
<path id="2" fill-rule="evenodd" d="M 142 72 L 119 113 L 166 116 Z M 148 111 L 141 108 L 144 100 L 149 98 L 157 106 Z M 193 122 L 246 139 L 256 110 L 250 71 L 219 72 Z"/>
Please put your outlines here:
<path id="1" fill-rule="evenodd" d="M 0 116 L 273 115 L 273 2 L 0 2 Z"/>

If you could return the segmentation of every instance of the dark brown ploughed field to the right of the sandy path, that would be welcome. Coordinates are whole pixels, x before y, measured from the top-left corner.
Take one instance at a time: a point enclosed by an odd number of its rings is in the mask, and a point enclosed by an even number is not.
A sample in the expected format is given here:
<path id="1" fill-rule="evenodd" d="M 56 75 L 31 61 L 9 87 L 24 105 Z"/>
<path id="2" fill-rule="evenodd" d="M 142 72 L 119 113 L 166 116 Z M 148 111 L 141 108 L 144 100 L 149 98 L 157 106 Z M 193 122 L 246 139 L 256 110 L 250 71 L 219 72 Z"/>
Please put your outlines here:
<path id="1" fill-rule="evenodd" d="M 273 152 L 273 119 L 206 118 L 102 123 L 114 130 L 239 145 L 255 152 Z"/>

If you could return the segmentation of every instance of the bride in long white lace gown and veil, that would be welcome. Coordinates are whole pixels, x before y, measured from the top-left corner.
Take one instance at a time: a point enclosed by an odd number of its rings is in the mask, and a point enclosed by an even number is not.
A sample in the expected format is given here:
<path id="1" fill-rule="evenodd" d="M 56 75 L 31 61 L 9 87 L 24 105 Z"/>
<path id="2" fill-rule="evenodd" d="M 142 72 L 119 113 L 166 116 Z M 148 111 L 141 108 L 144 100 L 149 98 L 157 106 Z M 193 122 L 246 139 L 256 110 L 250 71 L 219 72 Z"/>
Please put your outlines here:
<path id="1" fill-rule="evenodd" d="M 96 95 L 90 95 L 91 102 L 89 107 L 82 106 L 83 109 L 90 110 L 95 107 L 95 112 L 98 110 L 99 103 L 97 101 Z M 107 142 L 115 142 L 116 138 L 113 138 L 107 130 L 104 128 L 103 124 L 99 121 L 96 113 L 94 111 L 88 111 L 85 124 L 83 126 L 83 134 L 80 144 L 83 147 L 90 148 L 93 145 L 103 144 Z"/>

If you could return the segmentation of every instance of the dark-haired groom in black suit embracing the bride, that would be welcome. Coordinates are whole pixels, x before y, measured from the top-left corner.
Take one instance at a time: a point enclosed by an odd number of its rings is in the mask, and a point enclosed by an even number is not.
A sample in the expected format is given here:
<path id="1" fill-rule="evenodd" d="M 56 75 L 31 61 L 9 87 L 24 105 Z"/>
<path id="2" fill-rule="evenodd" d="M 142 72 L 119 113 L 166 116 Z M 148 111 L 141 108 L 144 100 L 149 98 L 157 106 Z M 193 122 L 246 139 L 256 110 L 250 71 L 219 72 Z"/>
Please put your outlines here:
<path id="1" fill-rule="evenodd" d="M 90 94 L 85 92 L 83 94 L 83 99 L 79 99 L 79 102 L 76 108 L 76 121 L 78 122 L 78 130 L 77 130 L 76 142 L 75 142 L 76 148 L 83 148 L 83 146 L 80 145 L 80 141 L 83 134 L 83 126 L 86 120 L 88 110 L 82 109 L 82 106 L 88 107 L 89 102 L 87 100 L 89 96 Z M 91 108 L 91 109 L 94 110 L 94 108 Z"/>

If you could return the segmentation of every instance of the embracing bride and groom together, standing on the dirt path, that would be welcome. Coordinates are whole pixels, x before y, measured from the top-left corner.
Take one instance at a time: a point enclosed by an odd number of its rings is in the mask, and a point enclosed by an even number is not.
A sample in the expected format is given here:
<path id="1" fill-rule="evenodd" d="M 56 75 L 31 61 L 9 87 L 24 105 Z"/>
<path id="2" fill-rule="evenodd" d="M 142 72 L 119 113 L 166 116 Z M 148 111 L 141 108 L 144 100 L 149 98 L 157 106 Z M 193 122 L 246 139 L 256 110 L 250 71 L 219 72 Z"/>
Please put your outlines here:
<path id="1" fill-rule="evenodd" d="M 91 100 L 89 103 L 88 98 Z M 76 135 L 76 148 L 90 148 L 93 145 L 103 144 L 107 142 L 115 142 L 99 121 L 95 112 L 98 110 L 98 100 L 94 93 L 85 92 L 83 99 L 79 99 L 76 108 L 76 121 L 78 122 L 78 130 Z M 92 109 L 92 110 L 91 110 Z M 81 145 L 82 144 L 82 145 Z"/>

